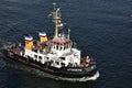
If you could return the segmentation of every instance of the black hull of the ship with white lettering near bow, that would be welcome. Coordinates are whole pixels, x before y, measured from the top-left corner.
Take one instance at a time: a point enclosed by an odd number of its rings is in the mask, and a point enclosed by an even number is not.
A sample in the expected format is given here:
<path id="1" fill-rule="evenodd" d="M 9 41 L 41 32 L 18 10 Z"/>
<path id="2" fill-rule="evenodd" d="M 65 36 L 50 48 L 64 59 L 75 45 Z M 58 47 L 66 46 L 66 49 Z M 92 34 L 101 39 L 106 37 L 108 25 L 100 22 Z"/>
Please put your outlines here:
<path id="1" fill-rule="evenodd" d="M 89 69 L 88 67 L 56 68 L 56 67 L 50 66 L 48 63 L 42 64 L 41 62 L 25 58 L 18 54 L 11 53 L 7 50 L 3 50 L 3 54 L 7 57 L 7 59 L 24 64 L 24 65 L 30 66 L 35 69 L 40 69 L 41 72 L 51 75 L 51 77 L 55 78 L 55 79 L 74 80 L 74 81 L 85 80 L 86 81 L 86 80 L 95 80 L 99 77 L 99 73 L 96 67 L 94 69 Z"/>

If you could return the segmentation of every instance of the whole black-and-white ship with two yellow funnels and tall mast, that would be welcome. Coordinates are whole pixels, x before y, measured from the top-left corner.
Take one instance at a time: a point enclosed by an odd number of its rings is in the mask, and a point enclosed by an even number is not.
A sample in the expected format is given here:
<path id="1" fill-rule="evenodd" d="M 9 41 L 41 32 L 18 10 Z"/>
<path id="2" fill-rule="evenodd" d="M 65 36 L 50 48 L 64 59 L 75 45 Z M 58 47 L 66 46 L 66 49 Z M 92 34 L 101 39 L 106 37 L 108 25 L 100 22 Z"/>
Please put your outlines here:
<path id="1" fill-rule="evenodd" d="M 8 59 L 46 73 L 55 79 L 96 80 L 99 73 L 95 59 L 89 56 L 81 57 L 81 51 L 73 46 L 74 42 L 69 37 L 70 30 L 67 34 L 59 32 L 64 23 L 61 11 L 55 4 L 54 10 L 48 15 L 55 23 L 54 37 L 48 38 L 45 32 L 38 32 L 38 41 L 34 41 L 31 35 L 24 36 L 24 43 L 6 45 L 4 56 Z"/>

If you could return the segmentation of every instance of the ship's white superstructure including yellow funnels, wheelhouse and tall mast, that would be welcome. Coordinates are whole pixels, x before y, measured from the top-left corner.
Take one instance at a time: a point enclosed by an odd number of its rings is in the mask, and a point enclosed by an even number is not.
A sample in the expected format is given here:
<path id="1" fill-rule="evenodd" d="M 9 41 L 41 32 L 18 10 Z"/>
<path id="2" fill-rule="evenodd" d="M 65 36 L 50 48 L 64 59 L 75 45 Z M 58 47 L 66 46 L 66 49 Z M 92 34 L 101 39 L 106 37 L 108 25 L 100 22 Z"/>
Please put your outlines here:
<path id="1" fill-rule="evenodd" d="M 55 8 L 54 11 L 50 14 L 53 18 L 55 23 L 55 35 L 53 40 L 47 40 L 46 33 L 40 32 L 40 41 L 34 45 L 33 38 L 25 38 L 25 52 L 24 56 L 30 57 L 36 62 L 45 64 L 51 63 L 51 66 L 61 68 L 70 66 L 80 65 L 80 51 L 73 47 L 73 41 L 69 38 L 68 34 L 58 33 L 58 30 L 64 26 L 64 23 L 61 21 L 59 9 Z M 26 45 L 28 44 L 28 45 Z M 30 50 L 29 50 L 30 48 Z"/>

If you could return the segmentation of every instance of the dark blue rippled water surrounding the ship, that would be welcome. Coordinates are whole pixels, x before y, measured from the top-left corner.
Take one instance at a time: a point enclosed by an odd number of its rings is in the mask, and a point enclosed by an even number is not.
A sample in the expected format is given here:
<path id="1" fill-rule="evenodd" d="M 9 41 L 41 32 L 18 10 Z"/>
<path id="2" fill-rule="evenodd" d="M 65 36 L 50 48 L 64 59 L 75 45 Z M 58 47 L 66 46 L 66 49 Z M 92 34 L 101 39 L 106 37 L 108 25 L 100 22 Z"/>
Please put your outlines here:
<path id="1" fill-rule="evenodd" d="M 57 2 L 82 55 L 97 61 L 97 81 L 54 80 L 8 66 L 0 53 L 0 88 L 132 88 L 132 0 L 0 0 L 0 48 L 54 33 L 47 14 Z M 32 72 L 31 72 L 32 73 Z"/>

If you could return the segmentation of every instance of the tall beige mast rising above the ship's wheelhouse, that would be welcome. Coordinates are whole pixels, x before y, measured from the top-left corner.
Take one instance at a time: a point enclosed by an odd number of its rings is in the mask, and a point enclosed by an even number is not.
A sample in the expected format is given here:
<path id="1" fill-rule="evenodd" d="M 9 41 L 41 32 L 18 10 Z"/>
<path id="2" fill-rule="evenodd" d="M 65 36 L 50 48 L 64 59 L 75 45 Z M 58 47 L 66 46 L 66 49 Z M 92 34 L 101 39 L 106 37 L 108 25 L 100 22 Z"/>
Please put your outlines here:
<path id="1" fill-rule="evenodd" d="M 63 26 L 63 23 L 61 22 L 61 12 L 59 8 L 56 8 L 56 3 L 53 3 L 54 11 L 51 12 L 50 16 L 53 18 L 53 22 L 55 23 L 55 35 L 54 38 L 58 38 L 58 30 Z"/>

